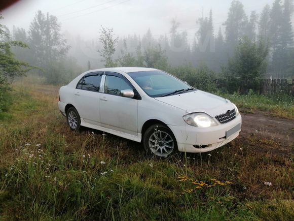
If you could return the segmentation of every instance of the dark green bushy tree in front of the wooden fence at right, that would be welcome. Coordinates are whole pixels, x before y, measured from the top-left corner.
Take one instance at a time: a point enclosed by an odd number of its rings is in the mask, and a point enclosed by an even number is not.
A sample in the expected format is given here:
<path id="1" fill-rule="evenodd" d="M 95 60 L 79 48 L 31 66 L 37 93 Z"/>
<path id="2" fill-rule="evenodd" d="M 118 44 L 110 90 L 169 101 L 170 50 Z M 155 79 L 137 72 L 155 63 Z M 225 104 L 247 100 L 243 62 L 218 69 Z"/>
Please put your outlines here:
<path id="1" fill-rule="evenodd" d="M 230 92 L 246 93 L 259 89 L 259 79 L 266 73 L 268 45 L 244 37 L 240 40 L 235 54 L 223 68 Z"/>

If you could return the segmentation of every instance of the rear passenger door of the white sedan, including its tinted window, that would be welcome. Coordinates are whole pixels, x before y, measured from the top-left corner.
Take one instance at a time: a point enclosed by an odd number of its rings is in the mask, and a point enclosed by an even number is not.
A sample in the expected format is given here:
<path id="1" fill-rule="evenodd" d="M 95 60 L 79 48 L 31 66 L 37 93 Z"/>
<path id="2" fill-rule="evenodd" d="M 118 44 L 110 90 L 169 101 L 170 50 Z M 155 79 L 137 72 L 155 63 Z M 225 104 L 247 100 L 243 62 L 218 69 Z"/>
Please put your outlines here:
<path id="1" fill-rule="evenodd" d="M 75 89 L 76 108 L 87 123 L 100 125 L 99 98 L 103 72 L 86 74 Z"/>

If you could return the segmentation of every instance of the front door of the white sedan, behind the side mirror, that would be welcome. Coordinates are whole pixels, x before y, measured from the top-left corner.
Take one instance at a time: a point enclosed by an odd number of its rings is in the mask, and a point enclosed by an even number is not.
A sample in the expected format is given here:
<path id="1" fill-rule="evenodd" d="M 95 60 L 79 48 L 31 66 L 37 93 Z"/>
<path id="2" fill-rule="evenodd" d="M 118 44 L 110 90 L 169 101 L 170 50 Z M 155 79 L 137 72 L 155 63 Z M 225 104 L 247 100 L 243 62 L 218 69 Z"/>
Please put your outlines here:
<path id="1" fill-rule="evenodd" d="M 137 136 L 138 100 L 121 96 L 121 90 L 134 89 L 133 85 L 123 75 L 114 72 L 105 72 L 103 83 L 99 101 L 101 125 Z"/>

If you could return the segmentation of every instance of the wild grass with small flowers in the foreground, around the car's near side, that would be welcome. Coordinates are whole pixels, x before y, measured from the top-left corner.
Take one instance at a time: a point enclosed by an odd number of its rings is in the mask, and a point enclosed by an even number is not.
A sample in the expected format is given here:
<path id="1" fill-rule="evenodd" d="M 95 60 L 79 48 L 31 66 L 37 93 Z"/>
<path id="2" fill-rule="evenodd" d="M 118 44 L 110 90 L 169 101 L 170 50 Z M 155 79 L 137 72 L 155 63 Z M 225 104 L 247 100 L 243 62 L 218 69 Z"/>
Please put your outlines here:
<path id="1" fill-rule="evenodd" d="M 10 117 L 0 121 L 0 219 L 294 216 L 288 148 L 253 136 L 209 154 L 158 160 L 132 141 L 95 130 L 71 132 L 57 109 L 55 87 L 18 84 L 14 89 Z"/>

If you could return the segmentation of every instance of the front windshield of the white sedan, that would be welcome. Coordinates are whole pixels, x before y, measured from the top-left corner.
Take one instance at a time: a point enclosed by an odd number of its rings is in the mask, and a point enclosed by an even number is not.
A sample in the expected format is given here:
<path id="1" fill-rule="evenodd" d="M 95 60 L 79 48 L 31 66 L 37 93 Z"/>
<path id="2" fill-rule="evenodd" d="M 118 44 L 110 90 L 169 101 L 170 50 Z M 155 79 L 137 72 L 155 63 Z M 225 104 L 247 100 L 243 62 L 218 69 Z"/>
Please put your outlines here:
<path id="1" fill-rule="evenodd" d="M 164 97 L 194 88 L 163 71 L 127 73 L 150 97 Z"/>

